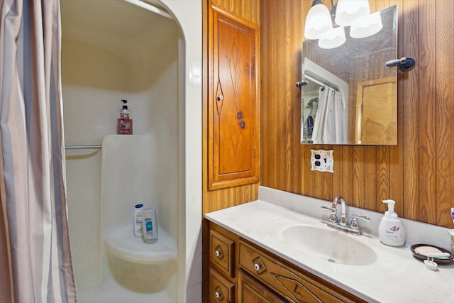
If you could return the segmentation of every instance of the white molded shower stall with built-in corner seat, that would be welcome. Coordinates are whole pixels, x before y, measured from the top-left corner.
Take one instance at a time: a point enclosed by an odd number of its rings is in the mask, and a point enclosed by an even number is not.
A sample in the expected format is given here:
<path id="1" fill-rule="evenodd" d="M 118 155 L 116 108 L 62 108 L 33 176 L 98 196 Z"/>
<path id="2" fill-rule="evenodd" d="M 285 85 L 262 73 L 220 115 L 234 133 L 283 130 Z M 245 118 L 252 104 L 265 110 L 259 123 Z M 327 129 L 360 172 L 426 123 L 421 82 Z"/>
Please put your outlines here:
<path id="1" fill-rule="evenodd" d="M 79 302 L 198 302 L 201 1 L 60 0 L 60 6 Z M 132 136 L 116 134 L 123 99 L 133 112 Z M 139 203 L 157 211 L 157 243 L 133 235 Z"/>

